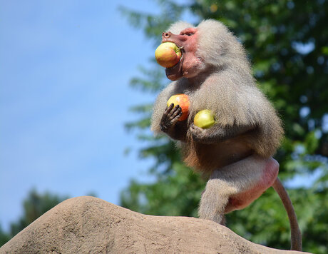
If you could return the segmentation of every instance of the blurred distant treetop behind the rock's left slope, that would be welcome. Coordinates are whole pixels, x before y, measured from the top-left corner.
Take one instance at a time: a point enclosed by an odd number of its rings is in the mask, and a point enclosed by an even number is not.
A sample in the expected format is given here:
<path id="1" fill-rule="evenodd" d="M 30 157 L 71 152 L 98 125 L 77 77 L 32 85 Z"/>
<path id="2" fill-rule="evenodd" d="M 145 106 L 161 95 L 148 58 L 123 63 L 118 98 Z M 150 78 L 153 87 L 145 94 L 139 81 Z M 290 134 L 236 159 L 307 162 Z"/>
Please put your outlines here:
<path id="1" fill-rule="evenodd" d="M 30 191 L 28 197 L 23 201 L 24 213 L 16 223 L 11 223 L 9 233 L 4 233 L 0 228 L 0 247 L 34 222 L 34 220 L 43 215 L 43 213 L 46 213 L 67 198 L 68 197 L 60 197 L 48 192 L 40 194 L 37 193 L 36 190 Z"/>

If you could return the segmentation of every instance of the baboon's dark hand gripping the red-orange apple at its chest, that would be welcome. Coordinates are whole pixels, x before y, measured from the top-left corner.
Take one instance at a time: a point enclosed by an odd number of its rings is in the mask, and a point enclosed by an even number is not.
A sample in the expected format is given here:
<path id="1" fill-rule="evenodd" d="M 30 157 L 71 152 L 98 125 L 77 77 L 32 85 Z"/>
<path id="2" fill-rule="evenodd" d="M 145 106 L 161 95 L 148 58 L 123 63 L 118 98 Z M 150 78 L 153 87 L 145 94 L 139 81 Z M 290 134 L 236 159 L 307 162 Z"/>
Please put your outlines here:
<path id="1" fill-rule="evenodd" d="M 172 103 L 170 106 L 167 106 L 160 120 L 160 130 L 164 133 L 170 133 L 182 114 L 183 111 L 179 105 L 174 106 Z"/>

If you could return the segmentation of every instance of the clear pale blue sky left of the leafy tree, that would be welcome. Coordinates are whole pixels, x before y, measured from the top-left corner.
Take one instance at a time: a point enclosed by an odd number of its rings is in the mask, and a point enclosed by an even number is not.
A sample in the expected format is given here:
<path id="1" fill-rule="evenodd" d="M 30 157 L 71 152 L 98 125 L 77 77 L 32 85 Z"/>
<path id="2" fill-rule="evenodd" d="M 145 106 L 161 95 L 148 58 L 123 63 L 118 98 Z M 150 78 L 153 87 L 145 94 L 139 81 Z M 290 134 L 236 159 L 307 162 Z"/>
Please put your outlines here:
<path id="1" fill-rule="evenodd" d="M 138 118 L 130 106 L 155 100 L 128 86 L 155 46 L 130 26 L 120 5 L 158 8 L 147 0 L 0 0 L 4 230 L 22 215 L 32 188 L 70 197 L 93 192 L 119 204 L 131 178 L 149 181 L 152 161 L 138 158 L 145 144 L 124 123 Z"/>

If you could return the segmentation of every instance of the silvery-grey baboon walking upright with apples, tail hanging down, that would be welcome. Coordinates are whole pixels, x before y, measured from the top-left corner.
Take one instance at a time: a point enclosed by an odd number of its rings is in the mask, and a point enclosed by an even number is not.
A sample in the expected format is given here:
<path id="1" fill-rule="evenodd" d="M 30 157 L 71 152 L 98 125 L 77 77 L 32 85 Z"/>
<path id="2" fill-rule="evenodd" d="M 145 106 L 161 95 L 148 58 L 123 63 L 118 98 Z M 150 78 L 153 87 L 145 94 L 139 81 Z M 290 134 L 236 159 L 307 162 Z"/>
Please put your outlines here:
<path id="1" fill-rule="evenodd" d="M 173 81 L 158 96 L 151 128 L 177 141 L 185 163 L 209 176 L 200 200 L 199 217 L 225 224 L 225 213 L 250 205 L 272 186 L 289 216 L 292 250 L 302 250 L 302 236 L 289 196 L 277 178 L 272 158 L 283 136 L 282 123 L 270 101 L 257 88 L 245 50 L 219 21 L 197 27 L 179 21 L 162 34 L 162 42 L 180 48 L 180 62 L 166 68 Z M 190 98 L 189 116 L 179 105 L 167 106 L 170 96 Z M 210 128 L 193 123 L 208 109 L 215 116 Z"/>

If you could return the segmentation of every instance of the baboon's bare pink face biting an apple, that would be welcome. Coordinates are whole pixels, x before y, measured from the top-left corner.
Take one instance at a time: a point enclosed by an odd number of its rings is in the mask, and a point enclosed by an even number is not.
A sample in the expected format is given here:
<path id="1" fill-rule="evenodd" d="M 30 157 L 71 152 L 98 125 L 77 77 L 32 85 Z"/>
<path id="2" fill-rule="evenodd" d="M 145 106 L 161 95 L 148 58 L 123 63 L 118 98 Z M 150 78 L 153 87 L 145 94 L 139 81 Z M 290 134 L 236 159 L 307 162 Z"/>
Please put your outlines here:
<path id="1" fill-rule="evenodd" d="M 180 34 L 172 34 L 170 31 L 162 34 L 162 43 L 173 42 L 183 54 L 180 62 L 171 68 L 166 68 L 166 76 L 172 80 L 181 77 L 191 78 L 198 73 L 201 61 L 196 57 L 198 45 L 198 30 L 190 27 L 184 29 Z"/>

